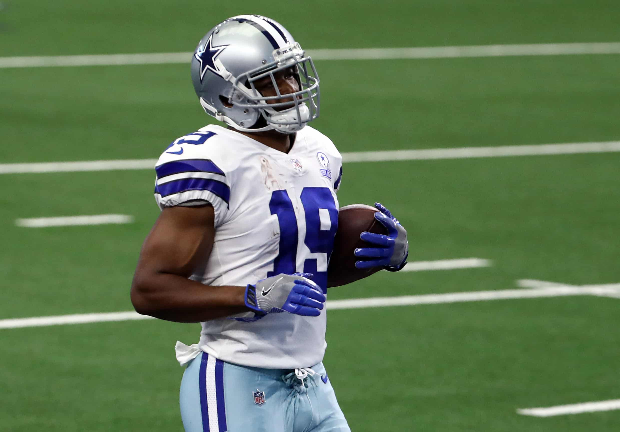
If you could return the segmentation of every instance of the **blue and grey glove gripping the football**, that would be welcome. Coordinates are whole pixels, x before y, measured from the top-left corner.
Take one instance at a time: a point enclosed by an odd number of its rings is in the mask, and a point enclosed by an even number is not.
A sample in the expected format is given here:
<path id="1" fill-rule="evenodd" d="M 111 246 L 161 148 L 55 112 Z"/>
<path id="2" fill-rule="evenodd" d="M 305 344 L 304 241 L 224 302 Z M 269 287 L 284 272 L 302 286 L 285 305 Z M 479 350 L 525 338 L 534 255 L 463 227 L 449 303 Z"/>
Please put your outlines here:
<path id="1" fill-rule="evenodd" d="M 389 271 L 399 271 L 407 264 L 409 256 L 409 242 L 407 242 L 407 230 L 392 216 L 387 208 L 379 203 L 374 203 L 379 210 L 374 213 L 374 218 L 387 229 L 387 236 L 364 231 L 360 239 L 371 243 L 376 247 L 360 247 L 355 249 L 355 256 L 360 258 L 373 258 L 358 261 L 357 268 L 383 267 Z"/>

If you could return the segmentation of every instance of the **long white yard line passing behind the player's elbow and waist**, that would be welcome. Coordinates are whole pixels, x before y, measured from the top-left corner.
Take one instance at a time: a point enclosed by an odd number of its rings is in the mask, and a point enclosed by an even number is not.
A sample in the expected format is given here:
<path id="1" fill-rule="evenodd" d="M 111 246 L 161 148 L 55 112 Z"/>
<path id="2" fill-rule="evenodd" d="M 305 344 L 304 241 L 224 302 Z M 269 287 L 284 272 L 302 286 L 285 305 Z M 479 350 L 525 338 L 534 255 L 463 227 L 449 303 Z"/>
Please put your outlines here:
<path id="1" fill-rule="evenodd" d="M 417 304 L 443 304 L 505 299 L 552 298 L 562 296 L 588 296 L 610 285 L 561 286 L 545 289 L 505 289 L 500 291 L 473 291 L 465 293 L 423 294 L 418 296 L 375 297 L 366 299 L 329 300 L 327 309 L 361 309 L 366 307 L 414 306 Z M 620 293 L 620 284 L 613 284 Z M 596 294 L 595 294 L 596 295 Z M 14 318 L 0 320 L 0 328 L 45 327 L 48 325 L 85 324 L 89 322 L 151 319 L 136 312 L 110 312 L 93 314 L 57 315 L 51 317 Z"/>

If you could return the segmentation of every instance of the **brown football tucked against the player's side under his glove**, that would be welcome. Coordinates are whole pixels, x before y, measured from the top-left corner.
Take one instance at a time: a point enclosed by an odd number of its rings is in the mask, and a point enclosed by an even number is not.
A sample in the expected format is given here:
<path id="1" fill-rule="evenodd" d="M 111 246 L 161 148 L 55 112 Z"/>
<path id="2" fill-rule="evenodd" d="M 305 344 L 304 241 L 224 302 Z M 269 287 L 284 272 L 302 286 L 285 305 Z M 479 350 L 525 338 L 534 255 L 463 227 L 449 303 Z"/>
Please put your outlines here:
<path id="1" fill-rule="evenodd" d="M 340 286 L 370 276 L 381 267 L 356 268 L 355 262 L 361 258 L 355 256 L 358 247 L 373 247 L 360 239 L 364 231 L 387 235 L 386 228 L 374 219 L 378 210 L 365 204 L 344 206 L 338 211 L 338 231 L 334 239 L 334 250 L 327 268 L 329 286 Z"/>

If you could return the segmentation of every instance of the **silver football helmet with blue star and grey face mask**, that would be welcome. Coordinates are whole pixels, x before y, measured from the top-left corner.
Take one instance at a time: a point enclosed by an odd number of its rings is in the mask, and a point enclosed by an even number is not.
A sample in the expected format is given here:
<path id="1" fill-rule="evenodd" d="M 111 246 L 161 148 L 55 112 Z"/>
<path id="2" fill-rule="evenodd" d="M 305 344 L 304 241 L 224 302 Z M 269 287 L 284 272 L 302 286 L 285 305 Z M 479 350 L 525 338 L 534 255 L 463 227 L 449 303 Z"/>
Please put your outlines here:
<path id="1" fill-rule="evenodd" d="M 281 93 L 274 74 L 291 67 L 299 90 Z M 265 77 L 275 96 L 254 86 Z M 293 133 L 319 117 L 312 59 L 288 30 L 260 15 L 238 15 L 206 33 L 192 56 L 192 82 L 205 112 L 239 131 Z"/>

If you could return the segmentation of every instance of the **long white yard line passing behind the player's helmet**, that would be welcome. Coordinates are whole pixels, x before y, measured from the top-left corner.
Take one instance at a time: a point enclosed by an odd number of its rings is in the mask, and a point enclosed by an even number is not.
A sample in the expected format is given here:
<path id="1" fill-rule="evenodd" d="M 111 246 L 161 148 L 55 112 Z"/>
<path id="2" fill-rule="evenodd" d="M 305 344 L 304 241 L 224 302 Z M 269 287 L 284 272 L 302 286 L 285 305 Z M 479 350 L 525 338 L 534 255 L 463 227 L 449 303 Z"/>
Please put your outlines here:
<path id="1" fill-rule="evenodd" d="M 190 52 L 73 56 L 0 57 L 0 68 L 49 66 L 120 66 L 123 64 L 189 63 Z M 416 46 L 410 48 L 341 48 L 308 50 L 314 60 L 396 60 L 620 54 L 620 42 L 531 43 L 525 45 Z"/>

